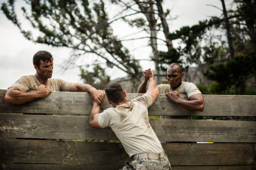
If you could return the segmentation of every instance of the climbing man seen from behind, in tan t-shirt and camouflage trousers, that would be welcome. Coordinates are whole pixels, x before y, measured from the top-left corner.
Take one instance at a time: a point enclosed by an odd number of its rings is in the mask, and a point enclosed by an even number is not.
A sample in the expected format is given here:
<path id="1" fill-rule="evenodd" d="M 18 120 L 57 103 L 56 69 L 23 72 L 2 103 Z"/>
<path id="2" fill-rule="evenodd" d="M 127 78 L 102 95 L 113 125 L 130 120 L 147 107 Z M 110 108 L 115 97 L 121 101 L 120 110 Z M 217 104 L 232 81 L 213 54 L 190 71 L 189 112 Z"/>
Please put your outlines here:
<path id="1" fill-rule="evenodd" d="M 121 170 L 169 170 L 169 160 L 148 122 L 148 107 L 159 93 L 153 77 L 149 78 L 148 91 L 130 102 L 118 83 L 107 85 L 102 93 L 107 94 L 113 107 L 100 113 L 100 105 L 93 102 L 90 125 L 95 128 L 111 127 L 126 153 L 133 158 Z"/>

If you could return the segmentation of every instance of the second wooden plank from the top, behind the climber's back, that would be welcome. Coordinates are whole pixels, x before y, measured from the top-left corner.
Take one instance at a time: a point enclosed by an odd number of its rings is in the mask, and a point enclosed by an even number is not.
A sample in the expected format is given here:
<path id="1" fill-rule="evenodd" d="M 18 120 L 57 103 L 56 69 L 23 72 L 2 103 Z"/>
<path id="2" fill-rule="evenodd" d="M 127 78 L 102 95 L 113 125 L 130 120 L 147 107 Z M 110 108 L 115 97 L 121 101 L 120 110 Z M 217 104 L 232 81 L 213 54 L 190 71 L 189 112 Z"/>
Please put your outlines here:
<path id="1" fill-rule="evenodd" d="M 150 119 L 160 141 L 255 143 L 255 121 Z M 0 114 L 0 138 L 118 140 L 88 116 Z"/>

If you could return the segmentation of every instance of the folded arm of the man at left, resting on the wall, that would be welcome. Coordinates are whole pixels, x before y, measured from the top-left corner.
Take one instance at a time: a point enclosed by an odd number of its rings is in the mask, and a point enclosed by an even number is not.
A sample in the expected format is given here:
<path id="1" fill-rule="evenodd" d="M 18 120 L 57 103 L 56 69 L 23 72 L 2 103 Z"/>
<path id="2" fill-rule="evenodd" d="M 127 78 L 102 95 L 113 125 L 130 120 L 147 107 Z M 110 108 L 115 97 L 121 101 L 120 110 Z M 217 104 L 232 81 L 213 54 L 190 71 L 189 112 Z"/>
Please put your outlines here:
<path id="1" fill-rule="evenodd" d="M 38 86 L 37 91 L 23 92 L 17 87 L 8 88 L 5 94 L 5 102 L 10 104 L 22 104 L 36 98 L 43 98 L 49 95 L 52 91 L 47 89 L 45 85 Z"/>

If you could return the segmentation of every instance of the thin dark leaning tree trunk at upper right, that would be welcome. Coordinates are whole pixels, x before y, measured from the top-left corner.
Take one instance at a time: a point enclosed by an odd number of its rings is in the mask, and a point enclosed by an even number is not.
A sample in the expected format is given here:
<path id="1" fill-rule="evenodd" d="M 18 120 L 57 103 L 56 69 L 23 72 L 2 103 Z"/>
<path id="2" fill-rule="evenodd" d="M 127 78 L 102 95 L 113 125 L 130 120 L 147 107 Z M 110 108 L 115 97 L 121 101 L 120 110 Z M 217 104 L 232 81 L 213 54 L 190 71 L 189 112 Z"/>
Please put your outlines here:
<path id="1" fill-rule="evenodd" d="M 230 31 L 230 25 L 228 22 L 228 14 L 225 6 L 224 0 L 221 0 L 222 7 L 223 7 L 223 15 L 224 15 L 224 22 L 225 22 L 225 28 L 227 30 L 227 37 L 228 37 L 228 47 L 231 58 L 235 57 L 234 47 L 232 43 L 232 37 L 231 37 L 231 31 Z"/>

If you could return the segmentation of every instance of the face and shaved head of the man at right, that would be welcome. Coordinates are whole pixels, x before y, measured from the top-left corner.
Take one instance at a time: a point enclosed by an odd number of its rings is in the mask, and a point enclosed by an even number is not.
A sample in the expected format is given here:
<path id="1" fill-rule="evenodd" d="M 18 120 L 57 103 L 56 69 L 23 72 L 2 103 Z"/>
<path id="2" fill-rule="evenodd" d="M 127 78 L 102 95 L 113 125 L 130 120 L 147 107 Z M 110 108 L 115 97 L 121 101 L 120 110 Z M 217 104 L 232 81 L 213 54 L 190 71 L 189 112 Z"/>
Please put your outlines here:
<path id="1" fill-rule="evenodd" d="M 172 87 L 175 89 L 182 83 L 182 77 L 184 73 L 180 71 L 178 65 L 174 65 L 173 67 L 168 67 L 167 69 L 167 80 Z"/>

